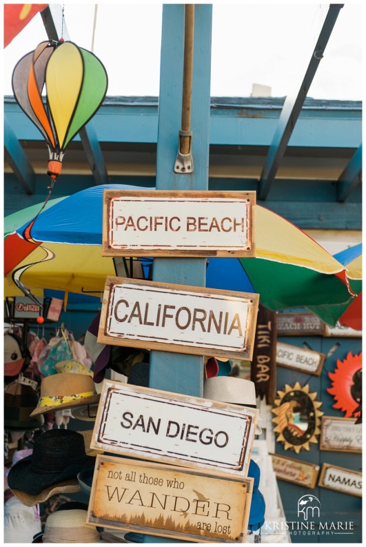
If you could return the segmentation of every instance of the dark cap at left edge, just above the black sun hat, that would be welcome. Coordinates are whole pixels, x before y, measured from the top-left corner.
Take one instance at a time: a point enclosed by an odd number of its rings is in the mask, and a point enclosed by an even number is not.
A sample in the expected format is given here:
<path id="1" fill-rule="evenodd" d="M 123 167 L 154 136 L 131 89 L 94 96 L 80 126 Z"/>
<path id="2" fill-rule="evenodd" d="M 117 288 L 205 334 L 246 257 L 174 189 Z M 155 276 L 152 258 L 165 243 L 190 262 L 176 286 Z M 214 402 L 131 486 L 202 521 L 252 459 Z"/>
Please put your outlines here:
<path id="1" fill-rule="evenodd" d="M 43 426 L 43 417 L 33 417 L 37 392 L 26 384 L 12 381 L 4 392 L 4 426 L 6 430 L 26 431 Z"/>

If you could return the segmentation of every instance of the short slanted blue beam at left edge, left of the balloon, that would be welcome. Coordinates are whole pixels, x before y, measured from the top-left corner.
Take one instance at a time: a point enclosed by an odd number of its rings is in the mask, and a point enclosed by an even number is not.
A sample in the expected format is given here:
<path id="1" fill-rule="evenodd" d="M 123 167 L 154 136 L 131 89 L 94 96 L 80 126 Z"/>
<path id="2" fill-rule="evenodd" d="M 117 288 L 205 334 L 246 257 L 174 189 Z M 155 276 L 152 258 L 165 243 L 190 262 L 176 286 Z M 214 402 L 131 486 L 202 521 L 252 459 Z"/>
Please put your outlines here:
<path id="1" fill-rule="evenodd" d="M 4 148 L 5 157 L 10 163 L 17 180 L 28 195 L 33 194 L 35 188 L 34 170 L 6 116 L 4 117 Z"/>

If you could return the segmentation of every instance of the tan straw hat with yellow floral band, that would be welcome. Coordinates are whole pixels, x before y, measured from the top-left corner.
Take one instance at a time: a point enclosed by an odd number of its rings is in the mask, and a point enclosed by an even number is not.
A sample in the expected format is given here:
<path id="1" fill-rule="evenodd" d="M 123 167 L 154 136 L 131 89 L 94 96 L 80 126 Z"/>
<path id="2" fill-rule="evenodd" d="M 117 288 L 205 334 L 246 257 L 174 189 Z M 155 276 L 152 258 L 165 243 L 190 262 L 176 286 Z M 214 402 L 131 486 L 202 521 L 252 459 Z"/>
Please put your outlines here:
<path id="1" fill-rule="evenodd" d="M 94 381 L 88 375 L 63 372 L 45 376 L 41 380 L 41 397 L 31 416 L 62 408 L 97 404 L 99 398 Z"/>

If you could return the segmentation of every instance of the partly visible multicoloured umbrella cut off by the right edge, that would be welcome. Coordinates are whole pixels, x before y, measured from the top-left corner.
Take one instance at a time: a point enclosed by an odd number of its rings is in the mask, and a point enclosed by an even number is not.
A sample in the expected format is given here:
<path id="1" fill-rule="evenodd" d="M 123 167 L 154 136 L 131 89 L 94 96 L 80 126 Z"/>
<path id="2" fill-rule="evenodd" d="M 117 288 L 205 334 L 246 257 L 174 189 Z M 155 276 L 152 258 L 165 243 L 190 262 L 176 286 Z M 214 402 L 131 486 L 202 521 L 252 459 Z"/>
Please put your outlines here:
<path id="1" fill-rule="evenodd" d="M 338 252 L 334 258 L 347 267 L 347 281 L 356 297 L 350 295 L 345 304 L 309 306 L 309 310 L 329 325 L 339 322 L 362 330 L 362 243 Z"/>

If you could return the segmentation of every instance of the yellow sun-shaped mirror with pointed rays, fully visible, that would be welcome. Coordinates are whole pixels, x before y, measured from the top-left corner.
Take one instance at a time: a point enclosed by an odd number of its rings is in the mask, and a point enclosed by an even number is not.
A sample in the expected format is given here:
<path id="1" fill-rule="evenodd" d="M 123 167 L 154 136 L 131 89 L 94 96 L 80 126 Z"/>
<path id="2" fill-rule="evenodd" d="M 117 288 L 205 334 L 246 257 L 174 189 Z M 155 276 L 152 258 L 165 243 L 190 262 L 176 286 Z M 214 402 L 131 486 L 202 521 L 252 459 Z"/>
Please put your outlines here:
<path id="1" fill-rule="evenodd" d="M 296 381 L 294 386 L 285 384 L 285 390 L 278 391 L 274 401 L 272 419 L 278 433 L 277 441 L 283 442 L 285 450 L 291 448 L 298 454 L 300 450 L 310 450 L 310 444 L 318 443 L 321 433 L 322 405 L 316 401 L 316 393 L 309 392 L 309 385 L 301 387 Z"/>

